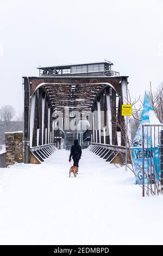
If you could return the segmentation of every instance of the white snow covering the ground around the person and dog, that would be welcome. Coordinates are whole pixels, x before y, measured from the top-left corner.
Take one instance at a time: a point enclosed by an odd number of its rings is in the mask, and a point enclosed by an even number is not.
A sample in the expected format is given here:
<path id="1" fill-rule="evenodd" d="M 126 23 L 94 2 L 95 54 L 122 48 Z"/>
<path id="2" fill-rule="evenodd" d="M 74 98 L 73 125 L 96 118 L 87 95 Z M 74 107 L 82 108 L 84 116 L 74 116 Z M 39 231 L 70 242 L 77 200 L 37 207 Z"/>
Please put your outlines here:
<path id="1" fill-rule="evenodd" d="M 163 244 L 163 197 L 142 198 L 130 171 L 88 150 L 69 178 L 68 156 L 0 169 L 2 245 Z"/>

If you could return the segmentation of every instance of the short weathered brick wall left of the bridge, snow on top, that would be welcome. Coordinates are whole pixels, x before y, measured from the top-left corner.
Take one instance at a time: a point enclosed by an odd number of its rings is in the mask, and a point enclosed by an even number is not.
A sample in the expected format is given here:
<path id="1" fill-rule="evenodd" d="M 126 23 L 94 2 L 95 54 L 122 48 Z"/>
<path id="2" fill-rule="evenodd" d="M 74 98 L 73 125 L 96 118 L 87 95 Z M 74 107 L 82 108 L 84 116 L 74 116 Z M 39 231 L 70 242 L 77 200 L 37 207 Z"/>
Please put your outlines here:
<path id="1" fill-rule="evenodd" d="M 6 165 L 23 162 L 23 132 L 5 133 Z"/>

